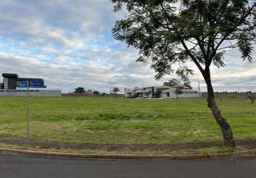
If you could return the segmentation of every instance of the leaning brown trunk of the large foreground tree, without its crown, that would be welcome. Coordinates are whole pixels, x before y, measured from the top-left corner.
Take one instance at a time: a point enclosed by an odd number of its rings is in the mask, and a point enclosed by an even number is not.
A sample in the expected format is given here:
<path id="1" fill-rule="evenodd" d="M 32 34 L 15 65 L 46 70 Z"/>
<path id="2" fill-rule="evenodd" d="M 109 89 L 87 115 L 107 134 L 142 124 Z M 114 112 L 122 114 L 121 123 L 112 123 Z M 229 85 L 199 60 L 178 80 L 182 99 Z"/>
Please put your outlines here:
<path id="1" fill-rule="evenodd" d="M 211 81 L 211 75 L 210 75 L 210 68 L 205 69 L 204 73 L 205 82 L 207 84 L 207 103 L 208 107 L 212 110 L 212 114 L 215 117 L 215 120 L 217 121 L 218 125 L 220 125 L 220 128 L 222 130 L 224 145 L 226 147 L 235 147 L 235 141 L 233 138 L 232 130 L 230 128 L 230 125 L 227 123 L 227 120 L 222 117 L 222 114 L 217 107 L 217 103 L 215 101 L 215 93 L 212 88 L 212 81 Z"/>

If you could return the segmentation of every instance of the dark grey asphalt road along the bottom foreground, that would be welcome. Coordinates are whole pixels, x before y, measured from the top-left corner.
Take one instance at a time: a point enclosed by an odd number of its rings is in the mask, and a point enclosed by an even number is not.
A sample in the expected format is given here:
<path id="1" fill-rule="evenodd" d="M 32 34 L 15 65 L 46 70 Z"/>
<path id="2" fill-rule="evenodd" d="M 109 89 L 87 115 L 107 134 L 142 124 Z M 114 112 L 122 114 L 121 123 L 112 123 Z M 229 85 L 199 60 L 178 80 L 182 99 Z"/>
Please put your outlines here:
<path id="1" fill-rule="evenodd" d="M 0 154 L 0 177 L 256 177 L 256 157 L 204 160 L 82 160 Z"/>

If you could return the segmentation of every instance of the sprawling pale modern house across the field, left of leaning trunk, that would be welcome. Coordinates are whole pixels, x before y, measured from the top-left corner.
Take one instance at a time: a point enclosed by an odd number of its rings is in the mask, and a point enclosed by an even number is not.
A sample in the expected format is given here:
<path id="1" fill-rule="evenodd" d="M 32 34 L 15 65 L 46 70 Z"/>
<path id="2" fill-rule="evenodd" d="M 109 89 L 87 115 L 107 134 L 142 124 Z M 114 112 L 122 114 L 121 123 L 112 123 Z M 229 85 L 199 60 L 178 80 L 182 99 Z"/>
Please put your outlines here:
<path id="1" fill-rule="evenodd" d="M 179 94 L 179 98 L 198 98 L 200 97 L 200 93 L 197 90 L 192 90 L 187 88 L 185 85 L 174 85 L 172 87 L 167 85 L 161 86 L 151 86 L 144 88 L 128 88 L 125 92 L 126 98 L 177 98 L 175 94 L 175 90 L 182 91 L 182 94 Z"/>

